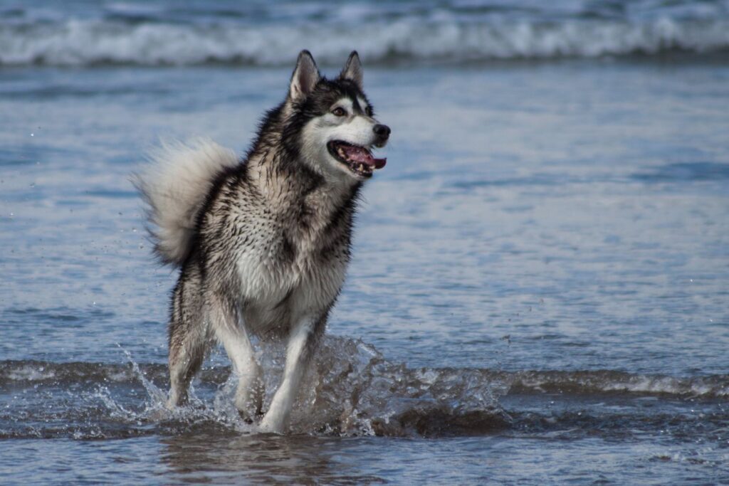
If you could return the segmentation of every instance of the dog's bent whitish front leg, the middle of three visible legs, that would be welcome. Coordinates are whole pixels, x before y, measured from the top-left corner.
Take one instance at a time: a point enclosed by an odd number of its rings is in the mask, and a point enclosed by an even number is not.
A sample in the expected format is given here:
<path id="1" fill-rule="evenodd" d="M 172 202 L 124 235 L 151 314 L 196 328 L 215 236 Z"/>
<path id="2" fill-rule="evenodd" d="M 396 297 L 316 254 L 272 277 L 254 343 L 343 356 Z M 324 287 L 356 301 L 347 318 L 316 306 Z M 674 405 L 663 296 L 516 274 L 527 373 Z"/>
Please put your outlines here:
<path id="1" fill-rule="evenodd" d="M 208 312 L 215 337 L 225 348 L 233 363 L 233 373 L 238 376 L 235 408 L 246 419 L 261 415 L 264 393 L 261 367 L 238 309 L 224 299 L 213 297 L 208 299 Z"/>

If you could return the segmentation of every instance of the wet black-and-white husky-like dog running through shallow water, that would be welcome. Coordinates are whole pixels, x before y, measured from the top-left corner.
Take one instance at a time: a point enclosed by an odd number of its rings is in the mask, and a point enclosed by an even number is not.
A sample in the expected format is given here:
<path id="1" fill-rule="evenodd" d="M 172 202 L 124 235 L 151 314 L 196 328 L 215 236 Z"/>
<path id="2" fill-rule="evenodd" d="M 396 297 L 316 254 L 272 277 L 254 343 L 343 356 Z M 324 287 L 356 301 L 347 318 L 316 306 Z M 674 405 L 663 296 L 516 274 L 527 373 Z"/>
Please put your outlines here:
<path id="1" fill-rule="evenodd" d="M 242 159 L 212 141 L 162 144 L 135 176 L 155 253 L 180 267 L 169 318 L 167 406 L 211 343 L 238 377 L 235 407 L 259 430 L 285 433 L 303 376 L 345 280 L 358 194 L 386 159 L 390 129 L 375 119 L 353 51 L 335 79 L 300 52 L 286 99 L 265 114 Z M 262 413 L 251 337 L 286 339 L 281 384 Z"/>

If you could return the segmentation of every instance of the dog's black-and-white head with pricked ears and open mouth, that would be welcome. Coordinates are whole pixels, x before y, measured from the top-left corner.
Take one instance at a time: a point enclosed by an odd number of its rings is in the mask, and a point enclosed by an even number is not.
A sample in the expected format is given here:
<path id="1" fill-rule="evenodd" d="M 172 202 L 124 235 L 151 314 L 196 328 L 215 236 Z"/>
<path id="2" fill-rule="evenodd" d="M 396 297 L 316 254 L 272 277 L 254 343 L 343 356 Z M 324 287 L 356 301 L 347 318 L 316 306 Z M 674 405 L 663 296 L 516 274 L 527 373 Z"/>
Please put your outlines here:
<path id="1" fill-rule="evenodd" d="M 353 51 L 336 79 L 319 74 L 311 53 L 303 50 L 291 77 L 284 128 L 296 141 L 303 162 L 327 179 L 356 182 L 372 177 L 386 159 L 374 147 L 385 146 L 390 129 L 375 119 L 362 92 L 362 64 Z"/>

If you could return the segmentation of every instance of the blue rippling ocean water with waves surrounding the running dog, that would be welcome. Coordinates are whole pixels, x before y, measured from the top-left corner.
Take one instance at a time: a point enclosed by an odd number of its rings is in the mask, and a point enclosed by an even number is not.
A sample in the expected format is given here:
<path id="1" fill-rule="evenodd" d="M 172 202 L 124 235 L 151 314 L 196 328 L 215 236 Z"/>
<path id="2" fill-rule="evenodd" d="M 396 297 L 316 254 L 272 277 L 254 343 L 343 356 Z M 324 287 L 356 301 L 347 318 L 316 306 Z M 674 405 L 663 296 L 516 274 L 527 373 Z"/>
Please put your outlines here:
<path id="1" fill-rule="evenodd" d="M 0 5 L 0 482 L 729 484 L 729 2 Z M 392 130 L 292 433 L 166 412 L 129 175 L 297 52 Z M 281 346 L 259 345 L 268 399 Z"/>

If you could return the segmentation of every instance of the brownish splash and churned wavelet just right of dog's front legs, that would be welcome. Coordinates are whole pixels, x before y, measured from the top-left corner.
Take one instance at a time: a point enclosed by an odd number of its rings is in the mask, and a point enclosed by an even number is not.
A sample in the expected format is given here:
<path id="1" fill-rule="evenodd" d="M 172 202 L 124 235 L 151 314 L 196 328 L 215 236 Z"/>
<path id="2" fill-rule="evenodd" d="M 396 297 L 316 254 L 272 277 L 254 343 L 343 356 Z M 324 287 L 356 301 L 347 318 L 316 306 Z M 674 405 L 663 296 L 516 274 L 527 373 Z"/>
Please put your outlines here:
<path id="1" fill-rule="evenodd" d="M 292 428 L 340 435 L 448 435 L 504 426 L 506 391 L 478 370 L 410 369 L 361 340 L 330 337 L 292 413 Z M 466 424 L 467 423 L 467 424 Z"/>

